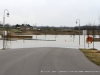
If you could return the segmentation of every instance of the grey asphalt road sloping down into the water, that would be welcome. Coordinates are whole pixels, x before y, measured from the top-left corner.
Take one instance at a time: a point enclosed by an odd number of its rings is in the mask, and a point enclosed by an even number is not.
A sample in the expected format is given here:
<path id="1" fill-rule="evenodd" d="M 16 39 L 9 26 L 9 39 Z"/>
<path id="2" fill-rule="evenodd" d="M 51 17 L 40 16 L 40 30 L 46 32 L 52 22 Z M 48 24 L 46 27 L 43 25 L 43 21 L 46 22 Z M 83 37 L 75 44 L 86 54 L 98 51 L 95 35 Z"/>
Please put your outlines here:
<path id="1" fill-rule="evenodd" d="M 100 67 L 78 49 L 0 50 L 0 75 L 100 75 Z"/>

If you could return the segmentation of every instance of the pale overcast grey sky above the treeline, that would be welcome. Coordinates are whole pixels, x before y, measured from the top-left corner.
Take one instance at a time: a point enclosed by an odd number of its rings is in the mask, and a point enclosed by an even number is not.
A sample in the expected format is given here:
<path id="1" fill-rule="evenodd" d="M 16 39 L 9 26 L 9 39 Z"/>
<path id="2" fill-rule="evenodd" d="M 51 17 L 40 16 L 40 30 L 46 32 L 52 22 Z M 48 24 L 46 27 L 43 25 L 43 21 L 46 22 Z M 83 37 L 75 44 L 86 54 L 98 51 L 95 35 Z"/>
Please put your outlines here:
<path id="1" fill-rule="evenodd" d="M 37 26 L 77 26 L 99 24 L 100 0 L 0 0 L 0 21 L 4 9 L 10 16 L 5 22 L 11 25 L 25 21 Z"/>

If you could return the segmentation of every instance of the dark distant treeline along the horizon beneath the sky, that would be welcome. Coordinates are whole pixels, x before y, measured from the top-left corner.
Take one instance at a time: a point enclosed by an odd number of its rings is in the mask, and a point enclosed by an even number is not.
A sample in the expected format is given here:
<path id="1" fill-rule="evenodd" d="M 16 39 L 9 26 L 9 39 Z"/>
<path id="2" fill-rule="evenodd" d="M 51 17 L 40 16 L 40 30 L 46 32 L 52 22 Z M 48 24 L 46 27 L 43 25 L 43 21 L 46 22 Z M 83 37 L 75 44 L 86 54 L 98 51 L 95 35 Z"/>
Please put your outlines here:
<path id="1" fill-rule="evenodd" d="M 31 29 L 32 28 L 38 28 L 38 29 L 47 29 L 47 30 L 50 30 L 50 29 L 54 29 L 54 30 L 57 30 L 57 29 L 68 29 L 68 30 L 100 30 L 100 25 L 83 25 L 83 26 L 75 26 L 75 27 L 68 27 L 68 26 L 60 26 L 60 27 L 55 27 L 55 26 L 31 26 L 29 24 L 16 24 L 16 25 L 9 25 L 9 24 L 5 24 L 4 27 L 6 28 L 20 28 L 21 26 L 28 26 L 30 27 Z M 0 28 L 3 28 L 3 25 L 0 24 Z"/>

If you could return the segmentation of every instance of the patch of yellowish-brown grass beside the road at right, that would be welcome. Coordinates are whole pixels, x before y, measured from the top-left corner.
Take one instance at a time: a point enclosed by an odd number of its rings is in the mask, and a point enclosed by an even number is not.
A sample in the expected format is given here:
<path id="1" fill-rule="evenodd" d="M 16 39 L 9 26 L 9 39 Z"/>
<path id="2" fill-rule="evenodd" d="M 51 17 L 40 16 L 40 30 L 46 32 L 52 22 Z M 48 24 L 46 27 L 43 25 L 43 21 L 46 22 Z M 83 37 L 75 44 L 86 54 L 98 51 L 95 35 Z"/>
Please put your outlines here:
<path id="1" fill-rule="evenodd" d="M 100 51 L 91 49 L 80 49 L 85 56 L 93 63 L 100 66 Z"/>

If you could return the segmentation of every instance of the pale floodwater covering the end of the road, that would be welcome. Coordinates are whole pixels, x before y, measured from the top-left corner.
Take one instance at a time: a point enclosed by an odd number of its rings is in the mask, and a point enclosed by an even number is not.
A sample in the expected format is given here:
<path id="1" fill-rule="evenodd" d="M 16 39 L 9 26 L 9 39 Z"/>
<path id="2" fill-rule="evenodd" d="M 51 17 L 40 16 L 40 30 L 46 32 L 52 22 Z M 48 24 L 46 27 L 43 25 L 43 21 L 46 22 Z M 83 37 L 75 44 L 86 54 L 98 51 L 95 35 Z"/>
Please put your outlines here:
<path id="1" fill-rule="evenodd" d="M 98 36 L 96 36 L 98 37 Z M 33 35 L 34 40 L 7 41 L 6 48 L 34 48 L 34 47 L 61 47 L 61 48 L 93 48 L 93 43 L 86 43 L 87 35 Z M 38 40 L 36 40 L 38 39 Z M 94 48 L 100 50 L 100 42 L 94 42 Z M 0 49 L 3 48 L 3 41 L 0 40 Z"/>

